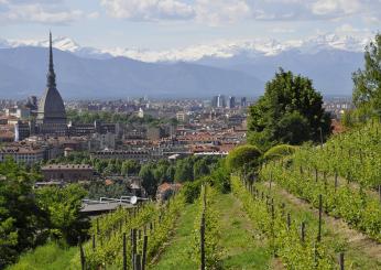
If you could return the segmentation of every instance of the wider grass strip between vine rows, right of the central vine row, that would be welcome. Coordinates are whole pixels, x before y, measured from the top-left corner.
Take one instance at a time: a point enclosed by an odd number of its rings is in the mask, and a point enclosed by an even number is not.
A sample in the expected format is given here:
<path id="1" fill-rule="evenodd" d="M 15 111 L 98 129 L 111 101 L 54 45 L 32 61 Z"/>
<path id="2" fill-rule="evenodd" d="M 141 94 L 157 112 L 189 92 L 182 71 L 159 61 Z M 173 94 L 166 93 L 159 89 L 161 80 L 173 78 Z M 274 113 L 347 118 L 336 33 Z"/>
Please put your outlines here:
<path id="1" fill-rule="evenodd" d="M 271 256 L 265 241 L 253 230 L 250 219 L 232 194 L 218 195 L 216 204 L 221 213 L 224 269 L 269 269 Z"/>

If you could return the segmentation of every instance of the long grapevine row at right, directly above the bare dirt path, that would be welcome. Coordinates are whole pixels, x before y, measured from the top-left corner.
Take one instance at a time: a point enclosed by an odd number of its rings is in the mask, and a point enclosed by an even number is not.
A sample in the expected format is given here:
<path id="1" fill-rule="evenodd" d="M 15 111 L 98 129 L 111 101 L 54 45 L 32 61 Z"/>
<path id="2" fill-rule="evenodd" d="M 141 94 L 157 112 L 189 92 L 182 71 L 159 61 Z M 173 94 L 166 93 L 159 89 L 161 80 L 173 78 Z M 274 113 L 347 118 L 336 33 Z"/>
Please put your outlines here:
<path id="1" fill-rule="evenodd" d="M 378 198 L 367 196 L 362 188 L 335 185 L 326 179 L 318 180 L 289 162 L 271 162 L 262 166 L 262 181 L 274 181 L 287 192 L 318 206 L 324 197 L 324 210 L 342 218 L 349 226 L 381 241 L 381 204 Z"/>

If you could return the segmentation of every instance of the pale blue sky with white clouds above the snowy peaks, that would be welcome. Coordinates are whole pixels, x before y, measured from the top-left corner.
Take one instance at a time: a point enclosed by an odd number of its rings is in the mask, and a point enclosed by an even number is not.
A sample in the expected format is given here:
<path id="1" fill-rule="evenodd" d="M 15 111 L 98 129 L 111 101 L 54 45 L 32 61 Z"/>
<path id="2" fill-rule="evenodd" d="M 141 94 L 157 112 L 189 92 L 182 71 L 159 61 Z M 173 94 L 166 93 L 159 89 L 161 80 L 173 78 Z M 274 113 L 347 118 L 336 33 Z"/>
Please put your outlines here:
<path id="1" fill-rule="evenodd" d="M 380 25 L 381 0 L 0 0 L 0 39 L 41 40 L 51 29 L 100 48 L 369 35 Z"/>

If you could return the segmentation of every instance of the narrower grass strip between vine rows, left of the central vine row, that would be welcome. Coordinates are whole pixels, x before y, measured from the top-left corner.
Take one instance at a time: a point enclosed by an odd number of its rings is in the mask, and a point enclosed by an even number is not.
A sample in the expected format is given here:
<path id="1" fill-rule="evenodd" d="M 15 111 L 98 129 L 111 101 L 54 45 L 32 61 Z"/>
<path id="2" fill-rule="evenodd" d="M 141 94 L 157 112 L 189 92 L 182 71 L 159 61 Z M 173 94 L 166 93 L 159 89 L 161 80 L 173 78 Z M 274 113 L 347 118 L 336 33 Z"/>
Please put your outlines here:
<path id="1" fill-rule="evenodd" d="M 185 207 L 185 210 L 178 219 L 174 238 L 160 258 L 160 261 L 155 266 L 150 267 L 150 269 L 198 269 L 197 264 L 190 259 L 190 253 L 193 252 L 192 231 L 194 229 L 194 220 L 197 215 L 197 209 L 198 205 L 196 204 L 187 205 Z"/>

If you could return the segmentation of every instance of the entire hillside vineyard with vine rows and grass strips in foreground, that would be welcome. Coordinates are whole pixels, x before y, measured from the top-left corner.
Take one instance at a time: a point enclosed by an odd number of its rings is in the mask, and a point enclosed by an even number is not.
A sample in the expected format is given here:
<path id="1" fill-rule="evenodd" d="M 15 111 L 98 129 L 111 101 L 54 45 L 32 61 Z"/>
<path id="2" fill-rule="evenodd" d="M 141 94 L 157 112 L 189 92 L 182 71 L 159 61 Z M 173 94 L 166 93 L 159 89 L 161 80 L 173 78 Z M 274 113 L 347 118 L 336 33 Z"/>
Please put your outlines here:
<path id="1" fill-rule="evenodd" d="M 47 245 L 51 262 L 36 264 L 41 247 L 9 269 L 380 269 L 379 129 L 275 155 L 254 177 L 231 172 L 230 191 L 205 179 L 198 193 L 193 183 L 119 208 L 92 219 L 77 247 Z"/>

